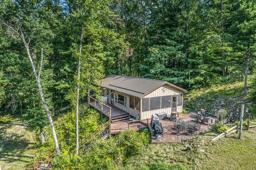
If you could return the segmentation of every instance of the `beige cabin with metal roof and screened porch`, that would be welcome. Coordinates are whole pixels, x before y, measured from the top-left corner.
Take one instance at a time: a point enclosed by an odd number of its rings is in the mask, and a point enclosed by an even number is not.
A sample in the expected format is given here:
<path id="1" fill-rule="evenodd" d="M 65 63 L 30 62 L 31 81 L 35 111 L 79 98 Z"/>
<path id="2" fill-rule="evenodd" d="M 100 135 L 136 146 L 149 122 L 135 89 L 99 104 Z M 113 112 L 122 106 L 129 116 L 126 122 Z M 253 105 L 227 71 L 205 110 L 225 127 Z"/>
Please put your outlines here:
<path id="1" fill-rule="evenodd" d="M 157 113 L 182 112 L 182 89 L 166 81 L 108 75 L 95 84 L 102 89 L 107 103 L 141 120 Z"/>

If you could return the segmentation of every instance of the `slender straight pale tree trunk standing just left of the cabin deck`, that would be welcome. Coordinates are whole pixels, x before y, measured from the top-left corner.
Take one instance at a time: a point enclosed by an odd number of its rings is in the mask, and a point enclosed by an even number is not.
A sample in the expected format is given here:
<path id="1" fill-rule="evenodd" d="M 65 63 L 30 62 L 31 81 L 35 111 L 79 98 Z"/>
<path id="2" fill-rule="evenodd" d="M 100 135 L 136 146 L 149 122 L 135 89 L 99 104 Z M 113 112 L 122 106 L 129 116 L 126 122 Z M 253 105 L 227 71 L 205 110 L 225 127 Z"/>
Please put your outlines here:
<path id="1" fill-rule="evenodd" d="M 82 7 L 82 18 L 84 16 L 84 8 Z M 76 154 L 79 154 L 79 129 L 78 129 L 78 109 L 79 109 L 79 90 L 80 90 L 80 67 L 81 67 L 81 55 L 82 55 L 82 41 L 83 41 L 84 25 L 81 26 L 81 35 L 79 42 L 79 57 L 77 67 L 77 87 L 76 87 Z"/>

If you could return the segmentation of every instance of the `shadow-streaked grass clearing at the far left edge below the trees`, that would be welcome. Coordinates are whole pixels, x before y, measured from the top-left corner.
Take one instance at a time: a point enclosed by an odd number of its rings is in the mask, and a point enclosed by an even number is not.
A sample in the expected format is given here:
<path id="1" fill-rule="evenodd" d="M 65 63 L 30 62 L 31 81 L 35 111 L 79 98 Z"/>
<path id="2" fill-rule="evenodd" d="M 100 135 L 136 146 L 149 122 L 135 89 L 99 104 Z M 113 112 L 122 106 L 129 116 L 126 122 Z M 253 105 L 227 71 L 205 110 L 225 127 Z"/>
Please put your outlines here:
<path id="1" fill-rule="evenodd" d="M 4 169 L 25 169 L 31 162 L 27 155 L 35 155 L 31 147 L 35 140 L 33 132 L 27 131 L 25 125 L 10 115 L 0 116 L 0 166 Z M 27 154 L 27 155 L 26 155 Z"/>

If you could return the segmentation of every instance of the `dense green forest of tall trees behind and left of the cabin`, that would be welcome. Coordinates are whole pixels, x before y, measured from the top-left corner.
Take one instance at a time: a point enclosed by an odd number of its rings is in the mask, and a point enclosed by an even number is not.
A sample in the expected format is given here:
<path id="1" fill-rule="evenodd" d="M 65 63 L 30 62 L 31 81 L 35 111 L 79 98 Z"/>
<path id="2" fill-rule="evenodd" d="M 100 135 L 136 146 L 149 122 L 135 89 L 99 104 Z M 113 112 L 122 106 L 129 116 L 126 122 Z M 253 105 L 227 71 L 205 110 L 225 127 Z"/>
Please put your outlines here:
<path id="1" fill-rule="evenodd" d="M 78 154 L 79 141 L 105 123 L 86 106 L 88 89 L 97 91 L 93 83 L 109 74 L 188 91 L 241 81 L 242 96 L 256 100 L 256 79 L 249 80 L 256 74 L 255 0 L 0 0 L 0 35 L 0 115 L 27 124 L 46 142 L 41 151 Z M 101 156 L 84 157 L 98 164 Z"/>

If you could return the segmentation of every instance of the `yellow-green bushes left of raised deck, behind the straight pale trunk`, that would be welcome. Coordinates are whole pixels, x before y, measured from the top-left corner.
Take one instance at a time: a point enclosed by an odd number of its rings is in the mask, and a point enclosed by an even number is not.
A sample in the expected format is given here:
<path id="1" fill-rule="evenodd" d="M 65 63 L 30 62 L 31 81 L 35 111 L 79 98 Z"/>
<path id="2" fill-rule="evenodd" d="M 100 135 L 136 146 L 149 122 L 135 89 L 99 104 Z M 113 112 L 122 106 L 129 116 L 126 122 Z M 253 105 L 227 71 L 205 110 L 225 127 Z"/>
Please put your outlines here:
<path id="1" fill-rule="evenodd" d="M 88 138 L 94 131 L 102 128 L 102 125 L 106 122 L 106 119 L 101 120 L 100 114 L 88 105 L 81 105 L 79 107 L 79 142 Z M 54 122 L 57 137 L 59 139 L 59 145 L 63 151 L 73 151 L 75 149 L 76 141 L 76 125 L 75 125 L 75 113 L 69 112 L 59 117 Z M 45 147 L 53 145 L 53 139 L 51 137 L 50 126 L 45 129 L 46 143 Z M 52 147 L 51 147 L 52 148 Z"/>

